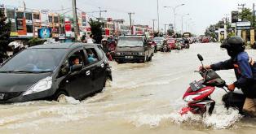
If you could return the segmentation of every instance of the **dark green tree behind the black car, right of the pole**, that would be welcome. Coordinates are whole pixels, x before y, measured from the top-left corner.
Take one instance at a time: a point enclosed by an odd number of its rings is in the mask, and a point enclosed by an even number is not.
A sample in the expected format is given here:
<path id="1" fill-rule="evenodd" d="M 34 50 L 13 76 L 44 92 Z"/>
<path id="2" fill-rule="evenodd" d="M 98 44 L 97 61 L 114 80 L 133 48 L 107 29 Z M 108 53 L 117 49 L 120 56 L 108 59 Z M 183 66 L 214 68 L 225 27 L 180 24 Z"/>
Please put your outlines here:
<path id="1" fill-rule="evenodd" d="M 90 30 L 95 39 L 95 43 L 100 44 L 102 40 L 102 25 L 103 23 L 90 19 Z"/>

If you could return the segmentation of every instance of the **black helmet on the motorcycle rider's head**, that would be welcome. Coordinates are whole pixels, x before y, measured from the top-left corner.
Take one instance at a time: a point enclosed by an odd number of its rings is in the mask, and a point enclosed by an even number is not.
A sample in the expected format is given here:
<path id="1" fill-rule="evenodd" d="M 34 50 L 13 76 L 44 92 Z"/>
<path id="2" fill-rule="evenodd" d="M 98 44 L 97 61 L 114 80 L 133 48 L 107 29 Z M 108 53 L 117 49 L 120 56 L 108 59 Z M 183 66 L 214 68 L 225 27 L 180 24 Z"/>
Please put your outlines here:
<path id="1" fill-rule="evenodd" d="M 245 41 L 238 36 L 227 37 L 220 47 L 227 49 L 227 54 L 229 56 L 235 57 L 237 54 L 245 50 Z"/>

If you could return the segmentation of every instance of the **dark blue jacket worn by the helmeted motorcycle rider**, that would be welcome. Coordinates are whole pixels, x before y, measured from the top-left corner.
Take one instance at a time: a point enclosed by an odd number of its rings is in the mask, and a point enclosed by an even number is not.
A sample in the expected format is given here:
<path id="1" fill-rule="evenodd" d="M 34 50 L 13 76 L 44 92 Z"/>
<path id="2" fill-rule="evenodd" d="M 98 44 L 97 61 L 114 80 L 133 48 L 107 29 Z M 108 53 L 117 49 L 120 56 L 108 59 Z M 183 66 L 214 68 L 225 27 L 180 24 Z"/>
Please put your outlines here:
<path id="1" fill-rule="evenodd" d="M 234 84 L 236 88 L 242 89 L 245 96 L 252 96 L 252 93 L 256 93 L 256 89 L 251 89 L 254 87 L 254 74 L 249 64 L 249 55 L 246 52 L 237 54 L 236 58 L 230 58 L 224 62 L 212 64 L 210 67 L 214 71 L 234 69 L 236 74 L 236 82 Z"/>

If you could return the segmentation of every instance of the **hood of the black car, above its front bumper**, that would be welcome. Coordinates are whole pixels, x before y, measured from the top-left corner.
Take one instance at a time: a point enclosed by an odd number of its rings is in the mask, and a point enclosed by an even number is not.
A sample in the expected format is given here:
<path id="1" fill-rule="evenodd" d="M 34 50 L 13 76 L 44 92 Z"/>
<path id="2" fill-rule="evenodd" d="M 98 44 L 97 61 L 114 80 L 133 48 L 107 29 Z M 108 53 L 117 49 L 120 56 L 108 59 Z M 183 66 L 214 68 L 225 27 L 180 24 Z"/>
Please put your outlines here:
<path id="1" fill-rule="evenodd" d="M 0 93 L 24 92 L 51 73 L 0 73 Z"/>

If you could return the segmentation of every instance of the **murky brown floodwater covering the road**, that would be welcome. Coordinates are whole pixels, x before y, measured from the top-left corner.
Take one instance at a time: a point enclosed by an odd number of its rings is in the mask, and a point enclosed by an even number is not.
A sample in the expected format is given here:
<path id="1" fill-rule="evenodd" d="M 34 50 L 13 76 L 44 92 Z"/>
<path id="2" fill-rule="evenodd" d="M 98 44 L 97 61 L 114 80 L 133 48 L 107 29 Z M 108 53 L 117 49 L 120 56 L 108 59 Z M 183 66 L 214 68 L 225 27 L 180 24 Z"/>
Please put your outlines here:
<path id="1" fill-rule="evenodd" d="M 256 59 L 254 50 L 248 51 Z M 145 64 L 112 64 L 113 83 L 102 93 L 79 102 L 25 102 L 0 106 L 0 133 L 255 133 L 256 119 L 244 119 L 237 110 L 226 110 L 225 93 L 216 89 L 214 114 L 179 115 L 186 103 L 182 97 L 188 84 L 201 77 L 200 66 L 227 59 L 219 44 L 194 44 L 190 50 L 157 53 Z M 218 71 L 227 81 L 233 71 Z"/>

